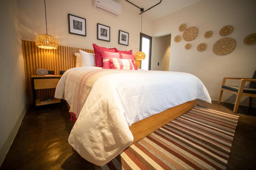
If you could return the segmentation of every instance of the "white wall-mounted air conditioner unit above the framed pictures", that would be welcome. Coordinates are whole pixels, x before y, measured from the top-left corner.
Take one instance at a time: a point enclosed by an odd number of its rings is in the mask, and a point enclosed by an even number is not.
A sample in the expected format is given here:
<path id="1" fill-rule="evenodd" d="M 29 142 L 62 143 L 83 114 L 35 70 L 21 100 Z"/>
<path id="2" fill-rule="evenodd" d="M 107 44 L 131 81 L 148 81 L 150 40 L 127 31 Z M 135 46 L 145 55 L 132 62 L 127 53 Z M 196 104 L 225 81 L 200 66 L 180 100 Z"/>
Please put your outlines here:
<path id="1" fill-rule="evenodd" d="M 118 17 L 122 6 L 112 0 L 92 0 L 92 6 L 106 14 Z"/>

